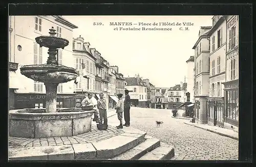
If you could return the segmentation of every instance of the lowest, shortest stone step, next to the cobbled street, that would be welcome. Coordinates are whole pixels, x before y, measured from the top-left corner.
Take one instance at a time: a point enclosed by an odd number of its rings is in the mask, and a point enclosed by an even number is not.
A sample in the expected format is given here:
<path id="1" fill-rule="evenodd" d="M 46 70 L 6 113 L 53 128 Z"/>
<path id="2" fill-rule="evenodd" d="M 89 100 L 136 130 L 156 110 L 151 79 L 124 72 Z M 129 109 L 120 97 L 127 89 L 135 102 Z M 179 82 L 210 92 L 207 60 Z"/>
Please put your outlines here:
<path id="1" fill-rule="evenodd" d="M 174 148 L 161 142 L 160 147 L 146 153 L 138 160 L 170 160 L 174 157 Z"/>

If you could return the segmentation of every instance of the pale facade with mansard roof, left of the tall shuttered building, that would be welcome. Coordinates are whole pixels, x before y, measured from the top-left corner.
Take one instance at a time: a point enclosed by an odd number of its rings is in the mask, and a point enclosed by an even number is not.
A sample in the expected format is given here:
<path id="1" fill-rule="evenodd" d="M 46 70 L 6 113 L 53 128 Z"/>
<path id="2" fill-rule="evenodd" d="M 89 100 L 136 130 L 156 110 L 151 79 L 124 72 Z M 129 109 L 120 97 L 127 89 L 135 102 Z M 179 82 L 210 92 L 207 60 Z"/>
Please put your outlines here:
<path id="1" fill-rule="evenodd" d="M 195 49 L 194 65 L 194 100 L 195 100 L 195 121 L 197 123 L 207 123 L 207 98 L 209 96 L 209 51 L 210 43 L 207 33 L 211 26 L 201 26 L 199 38 L 194 45 Z"/>

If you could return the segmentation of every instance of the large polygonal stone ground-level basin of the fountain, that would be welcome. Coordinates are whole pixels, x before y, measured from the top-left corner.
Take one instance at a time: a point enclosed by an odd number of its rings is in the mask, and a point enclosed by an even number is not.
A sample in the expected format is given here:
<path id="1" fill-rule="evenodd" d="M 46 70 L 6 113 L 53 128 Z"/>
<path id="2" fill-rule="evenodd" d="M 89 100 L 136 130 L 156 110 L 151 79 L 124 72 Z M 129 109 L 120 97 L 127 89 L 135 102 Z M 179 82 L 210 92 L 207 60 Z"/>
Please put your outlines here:
<path id="1" fill-rule="evenodd" d="M 9 110 L 9 135 L 41 138 L 73 136 L 91 131 L 94 110 L 56 113 L 42 113 L 41 108 L 38 109 L 41 113 L 36 110 Z"/>

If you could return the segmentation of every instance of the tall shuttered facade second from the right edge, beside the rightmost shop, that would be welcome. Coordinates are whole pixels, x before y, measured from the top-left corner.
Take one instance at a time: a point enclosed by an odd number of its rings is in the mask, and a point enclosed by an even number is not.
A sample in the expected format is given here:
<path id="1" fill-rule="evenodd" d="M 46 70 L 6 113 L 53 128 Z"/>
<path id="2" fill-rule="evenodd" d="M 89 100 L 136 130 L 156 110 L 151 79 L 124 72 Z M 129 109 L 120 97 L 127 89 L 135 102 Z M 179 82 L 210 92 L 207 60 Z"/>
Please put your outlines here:
<path id="1" fill-rule="evenodd" d="M 226 20 L 224 16 L 212 17 L 210 39 L 210 70 L 208 124 L 224 127 L 224 87 L 226 77 Z"/>

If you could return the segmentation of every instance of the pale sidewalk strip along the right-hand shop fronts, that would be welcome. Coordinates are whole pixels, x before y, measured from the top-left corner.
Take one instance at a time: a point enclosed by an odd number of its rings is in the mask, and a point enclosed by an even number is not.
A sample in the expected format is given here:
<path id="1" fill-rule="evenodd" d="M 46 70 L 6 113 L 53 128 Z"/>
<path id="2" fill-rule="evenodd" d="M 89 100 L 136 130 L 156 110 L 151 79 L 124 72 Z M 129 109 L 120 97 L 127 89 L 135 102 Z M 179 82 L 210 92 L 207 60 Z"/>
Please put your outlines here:
<path id="1" fill-rule="evenodd" d="M 235 132 L 233 130 L 230 130 L 230 129 L 225 129 L 225 128 L 221 128 L 221 127 L 217 127 L 217 126 L 210 126 L 207 124 L 191 123 L 191 122 L 184 122 L 184 124 L 195 126 L 197 128 L 204 129 L 204 130 L 207 130 L 210 132 L 214 132 L 214 133 L 226 136 L 226 137 L 230 137 L 230 138 L 233 138 L 234 140 L 239 140 L 239 135 L 238 135 L 239 133 Z"/>

